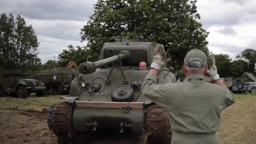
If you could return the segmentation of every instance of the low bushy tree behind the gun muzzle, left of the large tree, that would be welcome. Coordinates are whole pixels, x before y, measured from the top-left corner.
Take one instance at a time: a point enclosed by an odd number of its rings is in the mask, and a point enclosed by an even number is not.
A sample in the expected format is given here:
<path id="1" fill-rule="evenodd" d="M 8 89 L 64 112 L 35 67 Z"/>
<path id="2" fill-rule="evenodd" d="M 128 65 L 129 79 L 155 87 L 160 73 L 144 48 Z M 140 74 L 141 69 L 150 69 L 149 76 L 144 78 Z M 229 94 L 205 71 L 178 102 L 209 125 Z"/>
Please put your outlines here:
<path id="1" fill-rule="evenodd" d="M 79 65 L 79 63 L 88 61 L 91 55 L 90 49 L 80 46 L 73 47 L 72 45 L 69 45 L 68 50 L 62 50 L 62 53 L 60 53 L 58 56 L 58 64 L 65 67 L 69 62 L 74 61 L 77 65 Z"/>

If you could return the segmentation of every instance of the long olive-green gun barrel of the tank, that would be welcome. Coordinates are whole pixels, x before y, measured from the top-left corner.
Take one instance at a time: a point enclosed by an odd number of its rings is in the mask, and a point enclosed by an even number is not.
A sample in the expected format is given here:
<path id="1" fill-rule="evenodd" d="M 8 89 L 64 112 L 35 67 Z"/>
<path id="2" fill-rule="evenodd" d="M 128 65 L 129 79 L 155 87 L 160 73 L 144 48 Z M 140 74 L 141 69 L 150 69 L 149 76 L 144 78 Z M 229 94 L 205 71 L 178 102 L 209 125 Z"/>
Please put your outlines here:
<path id="1" fill-rule="evenodd" d="M 114 55 L 106 59 L 98 60 L 97 62 L 80 63 L 79 70 L 83 74 L 89 74 L 89 73 L 95 72 L 97 68 L 100 68 L 105 65 L 109 65 L 113 62 L 118 62 L 119 59 L 127 59 L 127 57 L 128 57 L 127 52 L 121 52 L 119 55 Z"/>

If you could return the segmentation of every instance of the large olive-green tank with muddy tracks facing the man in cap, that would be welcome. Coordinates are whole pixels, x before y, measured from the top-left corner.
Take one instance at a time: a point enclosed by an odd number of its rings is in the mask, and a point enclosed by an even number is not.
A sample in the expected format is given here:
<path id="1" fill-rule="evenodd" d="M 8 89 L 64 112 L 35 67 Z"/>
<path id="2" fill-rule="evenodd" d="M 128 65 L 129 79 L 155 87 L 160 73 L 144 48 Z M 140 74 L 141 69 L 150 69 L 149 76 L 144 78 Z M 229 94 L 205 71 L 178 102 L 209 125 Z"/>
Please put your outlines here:
<path id="1" fill-rule="evenodd" d="M 147 100 L 142 83 L 149 69 L 155 42 L 123 41 L 104 43 L 100 60 L 79 65 L 81 74 L 71 83 L 64 103 L 53 104 L 47 116 L 49 129 L 59 143 L 79 143 L 78 137 L 93 131 L 133 132 L 140 143 L 170 143 L 171 127 L 165 108 Z M 162 69 L 158 84 L 177 82 L 174 74 Z M 155 141 L 155 142 L 153 142 Z"/>

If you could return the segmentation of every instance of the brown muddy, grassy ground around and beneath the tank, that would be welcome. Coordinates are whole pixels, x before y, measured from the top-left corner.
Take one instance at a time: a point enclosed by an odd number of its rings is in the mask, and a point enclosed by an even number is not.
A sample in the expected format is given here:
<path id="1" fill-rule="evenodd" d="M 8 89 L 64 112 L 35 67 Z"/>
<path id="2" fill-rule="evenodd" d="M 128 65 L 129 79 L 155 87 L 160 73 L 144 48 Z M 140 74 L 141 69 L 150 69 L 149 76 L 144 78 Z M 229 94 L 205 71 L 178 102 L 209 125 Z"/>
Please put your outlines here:
<path id="1" fill-rule="evenodd" d="M 47 108 L 63 101 L 58 96 L 0 98 L 0 143 L 56 143 L 47 126 Z M 88 143 L 139 143 L 130 133 L 94 133 Z M 256 143 L 256 95 L 236 95 L 223 111 L 217 132 L 220 143 Z"/>

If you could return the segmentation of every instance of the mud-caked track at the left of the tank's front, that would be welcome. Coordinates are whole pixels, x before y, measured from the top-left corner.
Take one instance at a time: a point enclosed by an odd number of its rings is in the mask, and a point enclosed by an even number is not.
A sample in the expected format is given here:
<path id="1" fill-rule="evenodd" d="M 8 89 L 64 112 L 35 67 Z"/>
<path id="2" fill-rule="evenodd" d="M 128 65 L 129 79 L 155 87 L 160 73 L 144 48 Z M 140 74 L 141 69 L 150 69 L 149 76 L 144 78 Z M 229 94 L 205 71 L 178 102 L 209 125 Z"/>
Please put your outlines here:
<path id="1" fill-rule="evenodd" d="M 72 127 L 73 105 L 67 102 L 53 104 L 47 114 L 49 129 L 57 136 L 59 144 L 80 143 Z"/>

